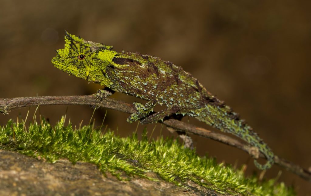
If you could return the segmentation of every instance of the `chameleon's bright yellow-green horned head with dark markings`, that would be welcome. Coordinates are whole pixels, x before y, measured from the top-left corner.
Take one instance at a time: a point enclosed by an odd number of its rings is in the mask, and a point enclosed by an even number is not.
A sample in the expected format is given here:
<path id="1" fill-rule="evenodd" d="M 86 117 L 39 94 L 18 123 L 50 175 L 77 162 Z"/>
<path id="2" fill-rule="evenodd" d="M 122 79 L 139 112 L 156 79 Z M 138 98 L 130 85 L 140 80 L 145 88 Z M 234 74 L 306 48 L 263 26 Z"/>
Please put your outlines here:
<path id="1" fill-rule="evenodd" d="M 91 82 L 100 81 L 107 62 L 98 58 L 99 53 L 111 50 L 111 46 L 88 42 L 65 31 L 65 47 L 56 50 L 52 63 L 58 69 Z"/>

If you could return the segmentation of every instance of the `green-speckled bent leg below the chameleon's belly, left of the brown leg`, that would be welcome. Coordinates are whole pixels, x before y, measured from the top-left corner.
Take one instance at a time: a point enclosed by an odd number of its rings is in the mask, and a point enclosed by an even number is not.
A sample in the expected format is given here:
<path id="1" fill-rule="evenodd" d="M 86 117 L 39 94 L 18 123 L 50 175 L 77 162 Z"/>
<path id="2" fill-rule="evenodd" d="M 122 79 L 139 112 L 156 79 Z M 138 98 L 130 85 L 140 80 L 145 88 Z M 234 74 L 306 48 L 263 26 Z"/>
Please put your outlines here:
<path id="1" fill-rule="evenodd" d="M 153 108 L 155 106 L 154 101 L 148 101 L 145 105 L 142 105 L 141 103 L 134 102 L 133 103 L 137 112 L 131 114 L 127 121 L 129 123 L 135 122 L 141 118 L 145 118 L 148 114 L 150 114 L 153 111 Z"/>

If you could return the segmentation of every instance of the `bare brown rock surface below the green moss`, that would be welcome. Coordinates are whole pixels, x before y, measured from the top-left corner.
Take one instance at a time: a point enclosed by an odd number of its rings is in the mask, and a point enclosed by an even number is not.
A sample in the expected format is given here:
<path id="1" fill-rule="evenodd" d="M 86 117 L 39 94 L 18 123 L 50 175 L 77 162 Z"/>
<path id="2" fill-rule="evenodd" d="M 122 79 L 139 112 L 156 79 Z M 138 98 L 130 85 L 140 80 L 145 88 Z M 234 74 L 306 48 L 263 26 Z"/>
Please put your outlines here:
<path id="1" fill-rule="evenodd" d="M 16 152 L 0 150 L 0 195 L 220 195 L 193 182 L 188 188 L 150 177 L 120 181 L 104 176 L 94 164 L 67 159 L 47 163 Z"/>

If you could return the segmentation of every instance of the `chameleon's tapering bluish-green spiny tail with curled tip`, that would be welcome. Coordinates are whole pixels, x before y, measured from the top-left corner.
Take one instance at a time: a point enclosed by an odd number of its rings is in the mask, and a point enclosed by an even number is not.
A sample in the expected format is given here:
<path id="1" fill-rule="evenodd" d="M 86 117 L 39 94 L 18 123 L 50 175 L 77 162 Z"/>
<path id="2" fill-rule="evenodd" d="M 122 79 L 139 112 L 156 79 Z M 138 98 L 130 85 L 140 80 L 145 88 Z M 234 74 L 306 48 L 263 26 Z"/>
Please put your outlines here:
<path id="1" fill-rule="evenodd" d="M 198 120 L 207 123 L 208 125 L 219 129 L 220 131 L 231 133 L 248 144 L 257 147 L 259 151 L 267 158 L 267 163 L 262 165 L 254 160 L 254 164 L 259 169 L 269 169 L 274 163 L 274 154 L 271 149 L 265 144 L 262 139 L 252 131 L 244 120 L 239 119 L 238 114 L 224 104 L 207 104 L 205 107 L 195 109 L 194 117 Z"/>

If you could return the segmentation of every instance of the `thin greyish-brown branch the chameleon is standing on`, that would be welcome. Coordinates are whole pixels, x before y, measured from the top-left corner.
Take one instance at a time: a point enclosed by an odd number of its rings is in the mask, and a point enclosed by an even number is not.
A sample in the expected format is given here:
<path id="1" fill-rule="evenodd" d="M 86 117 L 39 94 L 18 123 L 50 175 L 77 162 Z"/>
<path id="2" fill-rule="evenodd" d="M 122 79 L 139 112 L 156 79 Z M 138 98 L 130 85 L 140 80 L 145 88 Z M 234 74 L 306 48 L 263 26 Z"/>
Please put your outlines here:
<path id="1" fill-rule="evenodd" d="M 128 114 L 136 112 L 136 109 L 132 104 L 128 104 L 123 101 L 111 98 L 103 98 L 99 102 L 96 99 L 96 94 L 83 95 L 83 96 L 41 96 L 41 97 L 4 98 L 0 99 L 0 112 L 3 114 L 8 114 L 8 112 L 15 109 L 36 105 L 93 105 L 103 108 L 114 109 Z M 221 143 L 241 149 L 253 157 L 259 156 L 261 158 L 266 158 L 262 153 L 259 153 L 258 150 L 257 151 L 254 150 L 253 147 L 250 147 L 247 144 L 240 142 L 239 140 L 223 135 L 221 133 L 216 133 L 214 131 L 210 131 L 175 119 L 168 119 L 160 123 L 163 123 L 166 126 L 172 127 L 177 130 L 185 131 L 186 133 L 191 133 L 212 140 L 220 141 Z M 306 169 L 303 169 L 299 165 L 295 165 L 294 163 L 291 163 L 290 161 L 287 161 L 283 158 L 279 158 L 278 156 L 275 156 L 274 161 L 277 165 L 284 167 L 286 170 L 291 171 L 292 173 L 300 176 L 305 180 L 311 181 L 311 172 Z"/>

